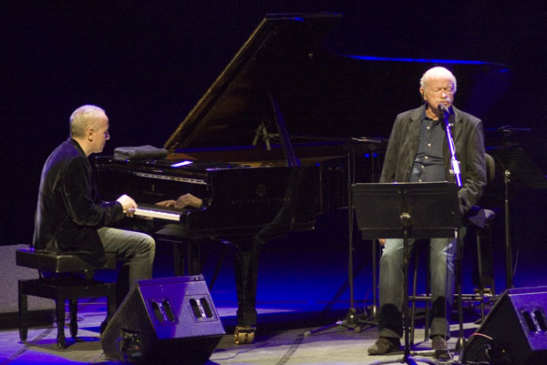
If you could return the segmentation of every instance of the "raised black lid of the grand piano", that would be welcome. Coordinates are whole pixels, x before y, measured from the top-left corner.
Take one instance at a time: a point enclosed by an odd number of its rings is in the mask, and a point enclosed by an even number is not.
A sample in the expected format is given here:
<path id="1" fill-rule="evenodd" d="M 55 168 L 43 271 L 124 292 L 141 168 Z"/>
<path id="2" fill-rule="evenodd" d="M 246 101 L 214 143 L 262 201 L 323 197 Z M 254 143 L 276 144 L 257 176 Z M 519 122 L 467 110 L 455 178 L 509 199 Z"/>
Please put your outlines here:
<path id="1" fill-rule="evenodd" d="M 271 98 L 293 142 L 387 137 L 397 113 L 419 105 L 418 78 L 435 65 L 454 72 L 455 105 L 477 117 L 508 85 L 498 64 L 336 55 L 322 40 L 340 17 L 266 15 L 164 147 L 252 147 L 261 122 L 278 133 Z"/>

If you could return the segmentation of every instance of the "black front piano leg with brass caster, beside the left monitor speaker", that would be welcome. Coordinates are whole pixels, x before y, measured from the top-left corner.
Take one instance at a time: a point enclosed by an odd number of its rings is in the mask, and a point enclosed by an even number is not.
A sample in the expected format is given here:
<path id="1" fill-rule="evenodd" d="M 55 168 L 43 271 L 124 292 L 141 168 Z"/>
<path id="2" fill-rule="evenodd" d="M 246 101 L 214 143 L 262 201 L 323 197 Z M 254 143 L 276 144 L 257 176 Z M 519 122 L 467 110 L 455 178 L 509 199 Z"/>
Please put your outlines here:
<path id="1" fill-rule="evenodd" d="M 239 242 L 238 242 L 239 243 Z M 258 249 L 253 239 L 244 239 L 234 255 L 235 288 L 237 291 L 236 344 L 253 343 L 256 330 L 256 282 L 258 276 Z"/>

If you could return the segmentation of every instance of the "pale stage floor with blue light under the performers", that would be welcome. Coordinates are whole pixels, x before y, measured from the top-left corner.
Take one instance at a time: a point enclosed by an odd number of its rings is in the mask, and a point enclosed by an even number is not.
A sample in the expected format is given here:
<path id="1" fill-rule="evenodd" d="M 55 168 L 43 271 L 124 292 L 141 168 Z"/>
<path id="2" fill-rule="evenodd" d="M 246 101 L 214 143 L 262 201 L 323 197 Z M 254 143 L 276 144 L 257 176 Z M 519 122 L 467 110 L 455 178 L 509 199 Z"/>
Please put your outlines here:
<path id="1" fill-rule="evenodd" d="M 226 335 L 213 351 L 208 365 L 281 365 L 281 364 L 372 364 L 375 361 L 402 359 L 403 352 L 396 352 L 389 356 L 370 356 L 366 349 L 377 340 L 377 327 L 364 324 L 363 330 L 356 331 L 342 326 L 323 330 L 318 333 L 304 336 L 306 330 L 335 323 L 335 319 L 343 319 L 345 309 L 334 309 L 325 314 L 321 312 L 305 312 L 301 306 L 284 303 L 276 308 L 269 304 L 259 308 L 259 328 L 253 344 L 235 345 L 233 343 L 233 326 L 235 324 L 235 308 L 230 306 L 216 306 L 226 330 Z M 99 340 L 99 325 L 105 318 L 106 308 L 101 299 L 88 304 L 78 305 L 78 339 L 67 338 L 66 350 L 57 350 L 57 328 L 29 329 L 26 342 L 19 340 L 18 330 L 0 331 L 0 365 L 29 364 L 29 363 L 98 363 L 115 364 L 105 358 Z M 466 336 L 469 336 L 478 327 L 471 320 L 465 324 Z M 458 325 L 450 328 L 453 338 L 449 340 L 449 347 L 454 349 L 458 336 Z M 69 330 L 66 329 L 69 336 Z M 428 350 L 430 341 L 424 341 L 423 326 L 416 331 L 416 345 L 412 350 Z M 454 359 L 459 354 L 453 353 Z M 424 359 L 419 361 L 418 359 Z M 418 363 L 435 362 L 433 357 L 426 353 L 415 355 Z M 181 360 L 184 364 L 184 360 Z"/>

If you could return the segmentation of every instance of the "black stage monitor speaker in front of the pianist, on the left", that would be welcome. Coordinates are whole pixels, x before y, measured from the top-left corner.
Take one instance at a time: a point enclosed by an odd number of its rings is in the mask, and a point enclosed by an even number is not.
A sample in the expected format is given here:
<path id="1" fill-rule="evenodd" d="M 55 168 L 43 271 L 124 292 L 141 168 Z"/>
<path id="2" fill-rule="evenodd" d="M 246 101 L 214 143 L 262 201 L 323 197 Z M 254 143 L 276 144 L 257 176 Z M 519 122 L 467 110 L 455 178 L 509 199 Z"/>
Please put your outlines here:
<path id="1" fill-rule="evenodd" d="M 108 359 L 201 365 L 224 335 L 201 275 L 139 280 L 101 335 Z"/>

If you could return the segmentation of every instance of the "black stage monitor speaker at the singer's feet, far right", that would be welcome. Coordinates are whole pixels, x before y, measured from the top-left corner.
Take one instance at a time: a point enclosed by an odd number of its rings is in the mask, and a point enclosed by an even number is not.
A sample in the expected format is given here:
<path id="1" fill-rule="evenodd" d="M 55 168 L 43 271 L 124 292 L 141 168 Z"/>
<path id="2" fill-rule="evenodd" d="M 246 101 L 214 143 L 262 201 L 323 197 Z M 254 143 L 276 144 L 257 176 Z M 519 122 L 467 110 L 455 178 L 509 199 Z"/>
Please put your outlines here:
<path id="1" fill-rule="evenodd" d="M 462 360 L 495 365 L 547 364 L 546 313 L 547 287 L 505 290 L 479 330 L 471 335 Z"/>

